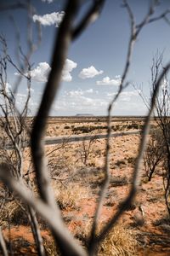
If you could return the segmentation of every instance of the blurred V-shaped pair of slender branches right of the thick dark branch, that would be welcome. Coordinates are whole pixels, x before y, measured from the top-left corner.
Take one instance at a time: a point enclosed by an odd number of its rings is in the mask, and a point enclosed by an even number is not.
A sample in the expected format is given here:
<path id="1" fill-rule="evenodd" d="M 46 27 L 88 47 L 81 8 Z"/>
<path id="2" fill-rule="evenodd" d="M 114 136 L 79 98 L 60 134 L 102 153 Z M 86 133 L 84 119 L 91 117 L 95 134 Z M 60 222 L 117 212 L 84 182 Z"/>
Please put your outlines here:
<path id="1" fill-rule="evenodd" d="M 134 186 L 131 189 L 131 192 L 130 192 L 129 196 L 127 196 L 127 200 L 125 200 L 126 203 L 122 204 L 122 207 L 121 207 L 120 211 L 118 211 L 116 213 L 115 217 L 112 218 L 110 223 L 106 224 L 104 230 L 101 231 L 101 235 L 97 239 L 96 238 L 96 230 L 97 230 L 97 224 L 98 224 L 98 220 L 99 220 L 99 214 L 101 212 L 103 201 L 105 199 L 105 194 L 106 194 L 109 182 L 110 182 L 109 163 L 110 163 L 110 149 L 111 149 L 111 111 L 114 107 L 115 102 L 117 101 L 117 99 L 121 95 L 122 90 L 125 90 L 127 88 L 128 84 L 129 84 L 128 82 L 126 82 L 126 79 L 127 79 L 127 74 L 128 74 L 128 71 L 129 71 L 131 60 L 132 60 L 133 46 L 134 46 L 137 38 L 139 37 L 139 33 L 141 32 L 141 30 L 143 29 L 143 27 L 146 24 L 148 24 L 152 21 L 155 21 L 155 20 L 161 20 L 162 18 L 167 16 L 167 14 L 169 13 L 169 10 L 167 10 L 162 15 L 151 19 L 150 16 L 154 14 L 155 9 L 156 9 L 156 4 L 157 4 L 157 1 L 151 2 L 150 9 L 149 9 L 148 13 L 144 16 L 144 19 L 139 24 L 136 24 L 134 16 L 133 16 L 133 11 L 132 11 L 130 5 L 128 4 L 127 0 L 123 0 L 123 7 L 125 7 L 127 9 L 127 14 L 129 16 L 129 19 L 130 19 L 131 33 L 130 33 L 129 43 L 128 43 L 128 46 L 127 46 L 127 59 L 126 59 L 126 62 L 125 62 L 125 67 L 124 67 L 123 72 L 122 72 L 122 80 L 121 80 L 121 83 L 119 85 L 119 89 L 116 92 L 116 96 L 113 97 L 113 99 L 111 100 L 111 103 L 109 104 L 109 108 L 108 108 L 107 138 L 106 138 L 106 148 L 105 148 L 105 152 L 106 152 L 106 154 L 105 154 L 105 180 L 104 180 L 104 183 L 102 184 L 102 187 L 101 187 L 100 192 L 99 192 L 99 199 L 98 199 L 98 202 L 97 202 L 97 210 L 95 212 L 94 224 L 93 224 L 93 227 L 92 227 L 91 236 L 90 236 L 89 244 L 88 244 L 89 250 L 91 250 L 93 253 L 95 253 L 95 245 L 97 244 L 95 241 L 101 241 L 105 237 L 108 230 L 111 229 L 111 227 L 115 224 L 116 220 L 127 209 L 127 205 L 130 204 L 133 196 L 135 195 L 136 184 L 134 184 Z M 168 69 L 168 65 L 167 65 L 167 69 Z M 162 79 L 161 76 L 160 76 L 160 79 Z M 156 85 L 159 88 L 160 84 L 156 84 Z M 156 91 L 156 93 L 157 93 L 157 91 Z M 156 100 L 155 96 L 153 95 L 152 101 L 155 102 L 155 100 Z M 146 136 L 147 136 L 147 132 L 149 130 L 150 115 L 152 113 L 152 110 L 153 110 L 152 108 L 153 107 L 154 107 L 154 105 L 150 105 L 150 112 L 148 113 L 148 117 L 146 118 L 146 122 L 145 122 L 145 125 L 144 125 L 143 137 L 141 138 L 139 156 L 138 156 L 138 159 L 137 159 L 137 163 L 138 163 L 137 166 L 138 167 L 135 167 L 135 170 L 134 170 L 134 173 L 133 173 L 133 175 L 134 175 L 133 176 L 133 182 L 138 179 L 136 177 L 136 174 L 139 172 L 139 170 L 138 170 L 139 164 L 140 164 L 141 159 L 143 158 L 144 147 L 145 147 L 145 143 L 146 143 L 145 142 L 146 141 Z"/>

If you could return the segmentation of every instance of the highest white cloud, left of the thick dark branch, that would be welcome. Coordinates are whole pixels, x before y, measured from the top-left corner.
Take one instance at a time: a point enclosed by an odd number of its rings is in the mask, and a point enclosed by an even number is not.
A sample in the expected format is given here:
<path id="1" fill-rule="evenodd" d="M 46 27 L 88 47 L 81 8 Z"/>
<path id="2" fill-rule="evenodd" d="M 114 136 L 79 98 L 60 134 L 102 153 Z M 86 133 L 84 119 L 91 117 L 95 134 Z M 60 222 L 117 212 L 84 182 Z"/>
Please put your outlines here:
<path id="1" fill-rule="evenodd" d="M 63 16 L 65 15 L 65 12 L 54 12 L 47 15 L 33 15 L 32 19 L 34 22 L 39 21 L 43 26 L 59 26 L 60 22 L 63 19 Z"/>

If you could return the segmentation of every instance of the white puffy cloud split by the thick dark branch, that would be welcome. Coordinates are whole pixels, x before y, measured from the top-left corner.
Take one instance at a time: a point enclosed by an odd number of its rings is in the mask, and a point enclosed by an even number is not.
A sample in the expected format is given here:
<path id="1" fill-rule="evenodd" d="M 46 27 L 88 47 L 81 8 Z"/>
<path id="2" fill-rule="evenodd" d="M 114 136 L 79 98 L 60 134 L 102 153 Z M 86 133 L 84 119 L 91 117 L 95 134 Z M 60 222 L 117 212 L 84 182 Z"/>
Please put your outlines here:
<path id="1" fill-rule="evenodd" d="M 65 67 L 63 69 L 62 73 L 62 80 L 65 82 L 70 82 L 71 77 L 71 71 L 73 68 L 77 67 L 77 63 L 74 61 L 71 61 L 69 59 L 66 59 L 65 61 Z M 37 67 L 31 70 L 31 79 L 37 81 L 37 82 L 47 82 L 48 81 L 48 74 L 51 70 L 51 67 L 47 62 L 40 62 Z M 18 73 L 15 73 L 18 75 Z"/>

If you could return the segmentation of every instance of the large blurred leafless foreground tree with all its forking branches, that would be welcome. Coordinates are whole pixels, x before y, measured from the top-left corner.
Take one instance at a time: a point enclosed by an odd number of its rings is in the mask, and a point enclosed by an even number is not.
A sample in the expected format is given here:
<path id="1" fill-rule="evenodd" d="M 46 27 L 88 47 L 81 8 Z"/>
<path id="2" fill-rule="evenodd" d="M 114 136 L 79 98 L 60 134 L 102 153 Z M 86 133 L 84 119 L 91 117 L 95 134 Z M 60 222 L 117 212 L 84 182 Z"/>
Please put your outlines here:
<path id="1" fill-rule="evenodd" d="M 141 32 L 146 24 L 155 20 L 165 18 L 168 13 L 168 11 L 166 11 L 159 16 L 153 17 L 157 3 L 157 1 L 153 1 L 153 3 L 150 3 L 150 9 L 148 10 L 148 13 L 144 16 L 144 19 L 139 24 L 136 24 L 132 9 L 127 3 L 127 0 L 124 0 L 123 6 L 127 10 L 131 24 L 131 34 L 127 49 L 127 59 L 125 61 L 125 67 L 122 72 L 121 84 L 119 86 L 119 89 L 117 90 L 116 96 L 112 99 L 108 108 L 108 129 L 105 148 L 105 181 L 100 189 L 97 209 L 94 216 L 94 223 L 90 236 L 88 238 L 88 247 L 84 249 L 77 243 L 74 237 L 71 236 L 69 230 L 67 230 L 67 228 L 65 227 L 63 218 L 61 217 L 59 206 L 56 204 L 56 201 L 54 199 L 54 193 L 49 183 L 48 164 L 44 152 L 44 136 L 47 125 L 47 117 L 54 101 L 54 97 L 59 90 L 62 69 L 65 64 L 65 58 L 71 41 L 76 39 L 84 31 L 84 29 L 92 21 L 94 21 L 94 18 L 97 18 L 99 16 L 104 3 L 104 0 L 92 1 L 92 6 L 88 10 L 88 13 L 82 17 L 82 20 L 80 20 L 77 25 L 75 25 L 74 21 L 77 18 L 77 14 L 81 8 L 81 1 L 72 0 L 67 1 L 66 3 L 65 16 L 59 26 L 59 32 L 55 39 L 54 52 L 52 54 L 51 61 L 51 72 L 49 73 L 48 82 L 45 86 L 45 90 L 42 95 L 42 101 L 40 103 L 38 113 L 34 120 L 31 131 L 31 153 L 37 177 L 37 188 L 39 192 L 39 197 L 33 195 L 30 189 L 26 187 L 26 184 L 23 183 L 22 180 L 19 181 L 11 176 L 10 166 L 6 164 L 1 166 L 0 168 L 0 177 L 3 182 L 6 183 L 10 189 L 14 190 L 14 192 L 17 193 L 29 207 L 32 207 L 36 212 L 41 214 L 42 218 L 47 221 L 50 229 L 52 230 L 54 241 L 58 245 L 59 251 L 62 255 L 96 255 L 101 241 L 105 239 L 105 236 L 107 236 L 108 232 L 116 224 L 117 220 L 122 216 L 123 212 L 125 212 L 127 208 L 131 206 L 139 186 L 139 171 L 144 156 L 144 149 L 147 141 L 146 137 L 150 130 L 150 117 L 153 114 L 153 110 L 156 104 L 156 96 L 158 94 L 162 79 L 170 68 L 170 62 L 168 62 L 156 79 L 154 91 L 151 96 L 150 108 L 144 121 L 144 128 L 139 143 L 139 154 L 136 159 L 136 164 L 134 166 L 132 186 L 129 194 L 127 195 L 127 198 L 122 201 L 122 205 L 117 209 L 117 212 L 111 217 L 108 223 L 105 224 L 105 226 L 102 228 L 102 230 L 99 231 L 99 234 L 97 235 L 99 214 L 103 205 L 103 201 L 105 199 L 105 193 L 110 180 L 109 155 L 111 148 L 111 110 L 112 108 L 114 108 L 114 104 L 120 96 L 122 90 L 124 90 L 128 86 L 127 73 L 129 71 L 133 55 L 133 45 L 139 37 L 139 32 Z"/>

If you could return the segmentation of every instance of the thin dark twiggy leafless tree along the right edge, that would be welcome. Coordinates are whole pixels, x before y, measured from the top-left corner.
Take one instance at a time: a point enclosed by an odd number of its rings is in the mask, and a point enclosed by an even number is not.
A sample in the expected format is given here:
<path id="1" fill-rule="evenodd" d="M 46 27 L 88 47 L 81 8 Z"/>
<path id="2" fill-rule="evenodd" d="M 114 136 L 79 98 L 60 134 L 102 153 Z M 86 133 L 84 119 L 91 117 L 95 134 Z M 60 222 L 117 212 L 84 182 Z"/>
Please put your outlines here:
<path id="1" fill-rule="evenodd" d="M 151 86 L 150 96 L 152 96 L 160 73 L 165 71 L 163 66 L 163 55 L 156 53 L 151 66 Z M 147 108 L 150 108 L 150 102 L 142 95 Z M 154 119 L 156 128 L 150 131 L 148 147 L 144 153 L 144 168 L 149 177 L 152 178 L 156 167 L 161 164 L 163 186 L 165 189 L 165 201 L 167 211 L 170 214 L 170 84 L 167 72 L 161 81 L 159 93 L 156 96 L 154 104 Z"/>

